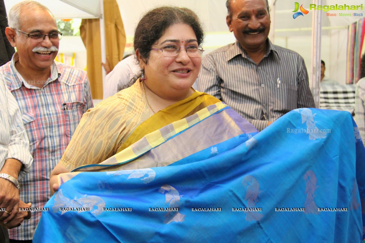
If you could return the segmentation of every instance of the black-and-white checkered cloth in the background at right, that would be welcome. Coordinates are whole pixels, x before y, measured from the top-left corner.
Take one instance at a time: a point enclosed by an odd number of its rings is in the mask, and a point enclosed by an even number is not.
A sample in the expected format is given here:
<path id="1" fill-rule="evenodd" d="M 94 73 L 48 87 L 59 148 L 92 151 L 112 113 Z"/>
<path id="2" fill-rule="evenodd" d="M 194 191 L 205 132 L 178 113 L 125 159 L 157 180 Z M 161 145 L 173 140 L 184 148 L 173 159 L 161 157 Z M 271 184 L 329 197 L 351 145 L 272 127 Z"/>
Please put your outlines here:
<path id="1" fill-rule="evenodd" d="M 319 98 L 320 109 L 345 110 L 355 114 L 355 85 L 323 85 Z"/>

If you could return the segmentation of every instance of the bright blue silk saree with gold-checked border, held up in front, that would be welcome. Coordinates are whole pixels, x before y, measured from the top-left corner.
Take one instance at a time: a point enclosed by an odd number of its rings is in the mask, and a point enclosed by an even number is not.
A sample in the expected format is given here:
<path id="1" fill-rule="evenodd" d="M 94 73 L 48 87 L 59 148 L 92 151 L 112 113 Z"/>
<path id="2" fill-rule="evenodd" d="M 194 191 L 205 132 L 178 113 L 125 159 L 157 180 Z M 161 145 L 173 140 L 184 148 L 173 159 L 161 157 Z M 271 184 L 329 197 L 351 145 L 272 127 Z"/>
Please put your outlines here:
<path id="1" fill-rule="evenodd" d="M 132 163 L 157 167 L 108 171 Z M 258 133 L 217 103 L 76 171 L 59 176 L 33 242 L 363 237 L 365 148 L 346 111 L 297 109 Z"/>

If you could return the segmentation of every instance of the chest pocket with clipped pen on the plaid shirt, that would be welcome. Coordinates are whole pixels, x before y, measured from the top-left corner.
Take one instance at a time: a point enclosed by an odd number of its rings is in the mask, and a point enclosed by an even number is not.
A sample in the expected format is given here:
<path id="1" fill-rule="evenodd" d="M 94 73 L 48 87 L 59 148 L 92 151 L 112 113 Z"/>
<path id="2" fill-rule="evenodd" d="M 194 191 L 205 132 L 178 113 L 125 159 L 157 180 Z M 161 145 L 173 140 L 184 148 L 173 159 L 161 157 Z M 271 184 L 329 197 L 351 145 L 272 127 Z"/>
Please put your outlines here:
<path id="1" fill-rule="evenodd" d="M 85 104 L 82 102 L 63 103 L 62 110 L 65 117 L 66 135 L 72 137 L 84 113 Z"/>

